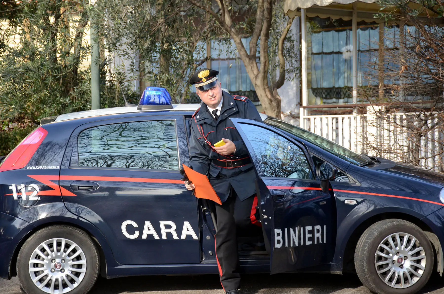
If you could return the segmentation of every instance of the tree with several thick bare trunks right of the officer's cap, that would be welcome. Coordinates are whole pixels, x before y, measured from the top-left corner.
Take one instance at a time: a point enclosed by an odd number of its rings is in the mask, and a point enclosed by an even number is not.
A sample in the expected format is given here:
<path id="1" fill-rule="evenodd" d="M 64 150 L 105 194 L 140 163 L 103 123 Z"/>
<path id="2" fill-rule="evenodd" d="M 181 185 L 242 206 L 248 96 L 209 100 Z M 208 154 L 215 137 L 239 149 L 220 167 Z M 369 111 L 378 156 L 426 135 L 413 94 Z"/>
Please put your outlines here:
<path id="1" fill-rule="evenodd" d="M 277 94 L 277 89 L 284 84 L 286 73 L 297 69 L 294 62 L 291 62 L 296 59 L 297 51 L 294 50 L 295 48 L 285 50 L 284 43 L 293 18 L 283 15 L 281 7 L 283 1 L 216 0 L 217 5 L 204 0 L 188 1 L 209 13 L 211 16 L 209 21 L 217 23 L 233 39 L 266 114 L 280 118 L 281 98 Z M 286 23 L 279 28 L 282 20 L 286 20 Z M 245 35 L 251 36 L 249 51 L 242 43 L 242 37 Z M 277 46 L 270 48 L 273 41 Z M 257 62 L 258 50 L 259 64 Z M 285 56 L 285 53 L 290 53 L 290 56 L 288 54 Z M 289 57 L 287 62 L 285 57 Z M 277 78 L 270 79 L 270 67 L 273 72 L 277 73 Z"/>

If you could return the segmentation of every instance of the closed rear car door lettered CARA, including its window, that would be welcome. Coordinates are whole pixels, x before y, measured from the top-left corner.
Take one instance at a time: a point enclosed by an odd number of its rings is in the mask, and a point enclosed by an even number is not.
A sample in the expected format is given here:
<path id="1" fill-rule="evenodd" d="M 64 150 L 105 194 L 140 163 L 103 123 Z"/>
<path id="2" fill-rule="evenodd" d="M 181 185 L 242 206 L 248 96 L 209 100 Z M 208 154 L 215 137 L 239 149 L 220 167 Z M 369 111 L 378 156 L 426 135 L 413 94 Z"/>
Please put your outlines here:
<path id="1" fill-rule="evenodd" d="M 75 196 L 63 200 L 103 232 L 121 264 L 199 263 L 197 201 L 179 173 L 183 117 L 144 119 L 78 127 L 60 171 Z"/>

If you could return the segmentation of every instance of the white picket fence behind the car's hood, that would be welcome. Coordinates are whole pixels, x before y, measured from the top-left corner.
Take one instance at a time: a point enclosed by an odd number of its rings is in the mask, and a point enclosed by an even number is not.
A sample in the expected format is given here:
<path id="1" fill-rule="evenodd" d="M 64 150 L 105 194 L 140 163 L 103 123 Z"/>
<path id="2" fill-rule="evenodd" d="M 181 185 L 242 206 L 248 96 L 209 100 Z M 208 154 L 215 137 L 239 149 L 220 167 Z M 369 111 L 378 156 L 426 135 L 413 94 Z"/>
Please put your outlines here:
<path id="1" fill-rule="evenodd" d="M 439 119 L 420 120 L 413 113 L 309 115 L 307 130 L 357 153 L 444 171 L 444 127 Z M 369 114 L 370 113 L 370 114 Z M 421 123 L 427 124 L 421 127 Z"/>

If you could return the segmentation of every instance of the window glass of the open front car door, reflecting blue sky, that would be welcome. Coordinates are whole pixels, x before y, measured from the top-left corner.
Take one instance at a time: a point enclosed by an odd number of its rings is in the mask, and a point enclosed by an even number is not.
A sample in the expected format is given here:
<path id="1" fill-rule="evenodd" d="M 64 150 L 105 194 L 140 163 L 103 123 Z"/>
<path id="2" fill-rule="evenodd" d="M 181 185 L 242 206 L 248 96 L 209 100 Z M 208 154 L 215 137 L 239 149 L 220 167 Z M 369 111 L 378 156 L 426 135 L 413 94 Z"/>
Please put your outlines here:
<path id="1" fill-rule="evenodd" d="M 313 179 L 310 164 L 297 145 L 262 127 L 242 124 L 242 130 L 253 146 L 262 176 Z"/>

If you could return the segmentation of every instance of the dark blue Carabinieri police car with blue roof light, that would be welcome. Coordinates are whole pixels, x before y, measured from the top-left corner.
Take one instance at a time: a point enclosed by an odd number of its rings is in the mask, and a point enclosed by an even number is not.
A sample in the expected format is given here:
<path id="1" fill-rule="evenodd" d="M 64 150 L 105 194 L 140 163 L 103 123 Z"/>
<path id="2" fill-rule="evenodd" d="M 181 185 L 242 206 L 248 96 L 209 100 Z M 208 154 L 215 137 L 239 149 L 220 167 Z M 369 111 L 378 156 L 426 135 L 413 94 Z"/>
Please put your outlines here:
<path id="1" fill-rule="evenodd" d="M 0 166 L 0 276 L 18 275 L 28 294 L 77 294 L 99 274 L 217 274 L 210 203 L 179 172 L 198 107 L 148 87 L 139 106 L 42 119 Z M 396 294 L 443 272 L 443 175 L 262 119 L 232 119 L 263 233 L 240 240 L 265 243 L 240 244 L 241 272 L 356 270 Z"/>

